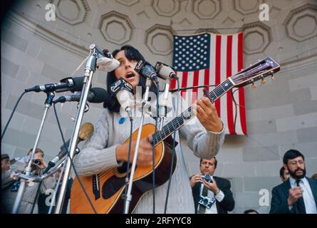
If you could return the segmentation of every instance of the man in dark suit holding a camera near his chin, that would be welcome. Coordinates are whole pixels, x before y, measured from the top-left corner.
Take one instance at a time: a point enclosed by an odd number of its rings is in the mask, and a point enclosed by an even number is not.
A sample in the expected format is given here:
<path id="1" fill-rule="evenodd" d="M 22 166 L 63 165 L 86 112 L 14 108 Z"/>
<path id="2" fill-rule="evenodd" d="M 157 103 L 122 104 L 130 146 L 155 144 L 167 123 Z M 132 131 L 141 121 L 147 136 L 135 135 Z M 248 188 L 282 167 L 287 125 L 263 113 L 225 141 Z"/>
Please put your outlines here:
<path id="1" fill-rule="evenodd" d="M 227 214 L 234 209 L 230 182 L 221 177 L 213 177 L 216 168 L 216 157 L 201 159 L 201 173 L 190 177 L 197 214 Z M 210 175 L 211 181 L 208 181 L 208 177 L 202 178 L 204 175 Z"/>

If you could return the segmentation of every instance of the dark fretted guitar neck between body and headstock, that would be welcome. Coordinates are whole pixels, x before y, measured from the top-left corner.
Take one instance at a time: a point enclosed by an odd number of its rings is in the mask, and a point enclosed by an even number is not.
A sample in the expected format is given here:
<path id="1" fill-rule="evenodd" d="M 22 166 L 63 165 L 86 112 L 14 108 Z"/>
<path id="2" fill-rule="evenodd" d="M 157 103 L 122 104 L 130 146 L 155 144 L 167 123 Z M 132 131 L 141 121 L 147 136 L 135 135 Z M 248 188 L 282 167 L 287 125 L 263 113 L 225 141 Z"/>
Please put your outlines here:
<path id="1" fill-rule="evenodd" d="M 224 93 L 227 93 L 230 89 L 234 87 L 234 83 L 231 78 L 228 78 L 223 83 L 219 84 L 214 90 L 208 93 L 209 98 L 211 98 L 212 103 L 220 98 Z M 194 108 L 189 106 L 187 110 L 177 115 L 176 118 L 167 123 L 162 130 L 157 131 L 152 135 L 153 140 L 155 140 L 155 145 L 165 140 L 168 136 L 172 135 L 176 130 L 180 129 L 182 125 L 185 125 L 189 120 L 194 118 Z"/>

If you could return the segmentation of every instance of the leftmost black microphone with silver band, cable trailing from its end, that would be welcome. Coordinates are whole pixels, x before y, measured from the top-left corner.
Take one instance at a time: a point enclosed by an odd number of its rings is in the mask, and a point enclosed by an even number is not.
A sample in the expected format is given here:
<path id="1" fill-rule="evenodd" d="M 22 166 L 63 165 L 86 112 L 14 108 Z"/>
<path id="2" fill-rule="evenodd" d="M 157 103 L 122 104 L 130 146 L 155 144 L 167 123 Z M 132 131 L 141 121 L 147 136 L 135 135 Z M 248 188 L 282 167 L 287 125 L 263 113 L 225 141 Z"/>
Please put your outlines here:
<path id="1" fill-rule="evenodd" d="M 83 89 L 83 76 L 75 78 L 63 78 L 59 83 L 48 83 L 41 86 L 34 86 L 32 88 L 26 88 L 26 92 L 53 92 L 56 93 L 71 90 L 72 92 L 81 91 Z"/>

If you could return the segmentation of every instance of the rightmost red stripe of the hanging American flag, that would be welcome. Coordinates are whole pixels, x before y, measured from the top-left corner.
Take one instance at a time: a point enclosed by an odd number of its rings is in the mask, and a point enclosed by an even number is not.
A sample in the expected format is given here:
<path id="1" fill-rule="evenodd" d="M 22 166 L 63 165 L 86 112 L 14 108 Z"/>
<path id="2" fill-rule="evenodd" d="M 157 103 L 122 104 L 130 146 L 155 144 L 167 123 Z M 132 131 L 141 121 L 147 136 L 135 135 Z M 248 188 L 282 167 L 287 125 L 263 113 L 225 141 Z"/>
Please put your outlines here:
<path id="1" fill-rule="evenodd" d="M 243 33 L 238 35 L 238 71 L 243 68 Z M 244 135 L 246 135 L 246 108 L 244 103 L 244 88 L 239 88 L 239 111 L 241 128 Z"/>

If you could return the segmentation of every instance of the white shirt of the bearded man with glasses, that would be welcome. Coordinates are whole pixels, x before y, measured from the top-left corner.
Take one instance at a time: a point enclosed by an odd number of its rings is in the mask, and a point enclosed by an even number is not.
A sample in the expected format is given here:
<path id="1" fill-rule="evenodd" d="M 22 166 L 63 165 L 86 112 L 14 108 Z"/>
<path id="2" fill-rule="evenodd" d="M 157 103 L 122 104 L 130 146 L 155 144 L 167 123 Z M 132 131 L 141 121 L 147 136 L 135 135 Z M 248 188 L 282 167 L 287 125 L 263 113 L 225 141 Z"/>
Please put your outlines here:
<path id="1" fill-rule="evenodd" d="M 293 177 L 289 177 L 291 188 L 297 187 L 296 180 Z M 313 192 L 311 192 L 311 185 L 309 185 L 306 177 L 302 178 L 299 182 L 299 186 L 303 190 L 303 202 L 305 203 L 306 214 L 317 214 L 317 207 L 315 199 L 313 198 Z M 292 209 L 293 206 L 289 207 Z"/>

